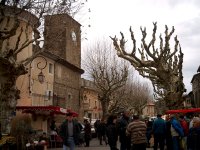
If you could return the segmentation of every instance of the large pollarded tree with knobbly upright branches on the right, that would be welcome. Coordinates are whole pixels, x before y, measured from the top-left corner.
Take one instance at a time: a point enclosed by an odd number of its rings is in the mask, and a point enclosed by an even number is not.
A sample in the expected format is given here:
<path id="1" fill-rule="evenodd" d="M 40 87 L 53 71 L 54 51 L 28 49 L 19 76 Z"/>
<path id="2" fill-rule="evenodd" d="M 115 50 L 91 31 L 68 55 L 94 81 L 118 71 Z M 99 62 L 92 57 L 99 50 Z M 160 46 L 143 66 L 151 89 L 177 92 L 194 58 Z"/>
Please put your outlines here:
<path id="1" fill-rule="evenodd" d="M 159 47 L 156 48 L 157 23 L 153 23 L 152 39 L 146 42 L 146 28 L 140 28 L 142 33 L 141 48 L 136 47 L 134 32 L 130 27 L 133 49 L 127 52 L 126 40 L 120 32 L 121 39 L 110 37 L 117 51 L 117 55 L 131 63 L 131 65 L 145 78 L 151 80 L 154 95 L 157 100 L 164 100 L 168 109 L 180 106 L 185 92 L 182 75 L 183 53 L 177 36 L 174 37 L 174 47 L 170 48 L 170 39 L 175 31 L 165 26 L 164 38 L 159 36 Z"/>

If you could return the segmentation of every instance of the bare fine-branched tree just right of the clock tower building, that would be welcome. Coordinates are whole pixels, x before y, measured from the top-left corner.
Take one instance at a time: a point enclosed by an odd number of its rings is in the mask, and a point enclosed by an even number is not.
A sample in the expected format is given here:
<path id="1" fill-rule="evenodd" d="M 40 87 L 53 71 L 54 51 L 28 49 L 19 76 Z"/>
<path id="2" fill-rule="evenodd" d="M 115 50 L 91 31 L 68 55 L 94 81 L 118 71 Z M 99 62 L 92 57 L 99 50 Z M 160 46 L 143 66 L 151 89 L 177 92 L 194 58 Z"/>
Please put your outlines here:
<path id="1" fill-rule="evenodd" d="M 99 90 L 99 101 L 103 117 L 108 114 L 112 93 L 120 89 L 127 80 L 128 67 L 111 52 L 110 43 L 97 42 L 88 49 L 84 69 Z"/>

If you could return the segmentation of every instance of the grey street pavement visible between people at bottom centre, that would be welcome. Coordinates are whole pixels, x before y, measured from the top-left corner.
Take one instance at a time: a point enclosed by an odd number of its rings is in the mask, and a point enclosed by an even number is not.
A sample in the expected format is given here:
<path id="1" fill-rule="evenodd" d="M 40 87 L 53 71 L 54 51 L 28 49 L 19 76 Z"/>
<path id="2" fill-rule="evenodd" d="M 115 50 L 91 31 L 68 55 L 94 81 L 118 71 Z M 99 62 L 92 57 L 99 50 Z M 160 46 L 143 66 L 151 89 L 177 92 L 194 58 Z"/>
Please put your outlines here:
<path id="1" fill-rule="evenodd" d="M 119 143 L 118 146 L 119 148 Z M 49 148 L 48 150 L 62 150 L 62 148 Z M 90 142 L 90 147 L 76 147 L 76 150 L 110 150 L 109 146 L 107 145 L 99 145 L 99 141 L 97 138 L 93 138 Z M 153 148 L 147 148 L 147 150 L 153 150 Z"/>

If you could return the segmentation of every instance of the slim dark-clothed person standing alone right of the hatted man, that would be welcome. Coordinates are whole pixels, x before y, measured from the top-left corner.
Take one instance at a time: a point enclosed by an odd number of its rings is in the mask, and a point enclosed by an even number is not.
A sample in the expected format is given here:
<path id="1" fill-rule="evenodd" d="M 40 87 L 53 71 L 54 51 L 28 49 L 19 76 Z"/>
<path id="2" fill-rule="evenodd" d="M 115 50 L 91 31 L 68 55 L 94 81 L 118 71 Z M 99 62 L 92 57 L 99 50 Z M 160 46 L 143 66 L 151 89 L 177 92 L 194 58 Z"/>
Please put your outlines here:
<path id="1" fill-rule="evenodd" d="M 84 124 L 85 124 L 85 147 L 89 147 L 90 146 L 90 140 L 92 139 L 92 134 L 91 134 L 91 125 L 89 123 L 89 121 L 86 119 L 84 120 Z"/>

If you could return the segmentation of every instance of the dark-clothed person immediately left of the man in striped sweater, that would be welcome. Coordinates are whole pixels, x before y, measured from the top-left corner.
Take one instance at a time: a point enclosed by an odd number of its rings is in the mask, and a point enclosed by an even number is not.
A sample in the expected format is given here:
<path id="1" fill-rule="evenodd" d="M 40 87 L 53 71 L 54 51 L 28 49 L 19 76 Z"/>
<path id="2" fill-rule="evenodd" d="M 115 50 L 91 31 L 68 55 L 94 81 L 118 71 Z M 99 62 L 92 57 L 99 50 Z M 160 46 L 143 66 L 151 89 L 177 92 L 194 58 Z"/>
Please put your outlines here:
<path id="1" fill-rule="evenodd" d="M 130 111 L 125 110 L 118 122 L 120 150 L 131 149 L 131 138 L 126 135 L 126 128 L 130 123 Z"/>

